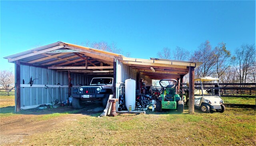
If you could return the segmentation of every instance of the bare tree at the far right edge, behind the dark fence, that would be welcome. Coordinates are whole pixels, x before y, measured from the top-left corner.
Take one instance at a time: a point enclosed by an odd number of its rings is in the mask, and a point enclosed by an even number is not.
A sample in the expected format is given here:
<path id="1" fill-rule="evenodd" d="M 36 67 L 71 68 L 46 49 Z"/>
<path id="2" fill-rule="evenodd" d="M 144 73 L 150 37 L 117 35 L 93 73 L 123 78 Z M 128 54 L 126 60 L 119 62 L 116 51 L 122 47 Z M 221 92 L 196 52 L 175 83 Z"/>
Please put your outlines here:
<path id="1" fill-rule="evenodd" d="M 246 83 L 248 74 L 255 63 L 255 45 L 242 45 L 236 49 L 233 58 L 233 64 L 238 73 L 239 82 Z"/>

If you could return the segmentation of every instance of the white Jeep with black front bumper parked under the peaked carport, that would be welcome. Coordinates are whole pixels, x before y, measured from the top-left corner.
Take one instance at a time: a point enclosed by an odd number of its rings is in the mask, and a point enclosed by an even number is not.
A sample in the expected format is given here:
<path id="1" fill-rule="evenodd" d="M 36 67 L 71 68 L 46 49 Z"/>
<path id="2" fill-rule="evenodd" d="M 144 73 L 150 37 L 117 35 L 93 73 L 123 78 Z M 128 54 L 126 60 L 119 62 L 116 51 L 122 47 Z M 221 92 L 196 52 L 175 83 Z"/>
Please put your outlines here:
<path id="1" fill-rule="evenodd" d="M 101 102 L 106 107 L 113 90 L 113 78 L 92 78 L 89 86 L 81 86 L 75 94 L 72 94 L 72 106 L 81 109 L 84 103 Z"/>

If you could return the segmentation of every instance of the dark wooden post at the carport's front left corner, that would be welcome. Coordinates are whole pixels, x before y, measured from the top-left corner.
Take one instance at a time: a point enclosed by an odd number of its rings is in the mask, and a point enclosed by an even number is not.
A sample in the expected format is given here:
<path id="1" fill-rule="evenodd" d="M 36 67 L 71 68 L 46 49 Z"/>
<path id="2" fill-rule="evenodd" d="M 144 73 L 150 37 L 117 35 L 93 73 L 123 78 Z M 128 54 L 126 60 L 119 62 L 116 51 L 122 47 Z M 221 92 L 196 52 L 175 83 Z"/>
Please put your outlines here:
<path id="1" fill-rule="evenodd" d="M 15 76 L 16 76 L 16 84 L 15 84 L 15 112 L 20 111 L 20 60 L 15 61 Z"/>

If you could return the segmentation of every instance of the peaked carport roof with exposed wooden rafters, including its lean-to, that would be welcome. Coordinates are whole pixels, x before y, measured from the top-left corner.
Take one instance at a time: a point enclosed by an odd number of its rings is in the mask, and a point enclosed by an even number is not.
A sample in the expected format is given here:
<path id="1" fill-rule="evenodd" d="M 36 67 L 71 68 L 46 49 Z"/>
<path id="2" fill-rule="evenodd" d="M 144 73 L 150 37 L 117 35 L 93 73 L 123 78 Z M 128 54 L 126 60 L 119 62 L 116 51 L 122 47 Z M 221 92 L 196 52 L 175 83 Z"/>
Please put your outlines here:
<path id="1" fill-rule="evenodd" d="M 126 58 L 120 54 L 60 41 L 4 58 L 8 59 L 8 62 L 20 60 L 21 64 L 25 65 L 52 69 L 67 69 L 70 67 L 70 70 L 77 69 L 79 66 L 83 67 L 83 69 L 84 66 L 88 66 L 86 69 L 91 70 L 112 70 L 113 61 L 117 59 L 123 64 L 139 70 L 141 74 L 157 80 L 163 78 L 180 78 L 180 76 L 186 75 L 189 72 L 190 66 L 198 67 L 202 64 L 202 62 L 161 58 Z"/>

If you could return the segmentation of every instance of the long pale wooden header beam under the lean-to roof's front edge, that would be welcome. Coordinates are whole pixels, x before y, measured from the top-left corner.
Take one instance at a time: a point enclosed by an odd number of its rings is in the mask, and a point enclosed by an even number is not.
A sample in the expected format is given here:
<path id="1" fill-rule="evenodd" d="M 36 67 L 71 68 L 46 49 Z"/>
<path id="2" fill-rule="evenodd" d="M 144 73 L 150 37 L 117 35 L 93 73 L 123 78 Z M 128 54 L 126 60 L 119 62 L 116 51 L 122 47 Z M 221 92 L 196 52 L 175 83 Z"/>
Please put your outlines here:
<path id="1" fill-rule="evenodd" d="M 159 64 L 159 63 L 148 63 L 148 62 L 132 62 L 132 61 L 122 61 L 124 64 L 129 64 L 130 66 L 162 66 L 162 67 L 169 67 L 169 68 L 187 68 L 187 66 L 179 66 L 179 65 L 172 65 L 172 64 Z"/>

